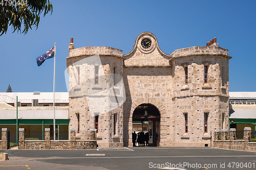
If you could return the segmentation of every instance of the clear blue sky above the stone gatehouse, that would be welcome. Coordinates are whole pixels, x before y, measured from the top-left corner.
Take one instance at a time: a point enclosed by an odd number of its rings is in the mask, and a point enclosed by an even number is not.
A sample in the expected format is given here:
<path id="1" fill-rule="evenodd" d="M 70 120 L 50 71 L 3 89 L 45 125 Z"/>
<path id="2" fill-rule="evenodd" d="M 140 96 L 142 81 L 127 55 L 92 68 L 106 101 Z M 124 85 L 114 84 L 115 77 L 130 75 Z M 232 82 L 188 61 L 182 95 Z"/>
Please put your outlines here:
<path id="1" fill-rule="evenodd" d="M 136 37 L 151 32 L 161 50 L 217 43 L 229 50 L 229 91 L 255 90 L 256 1 L 52 1 L 53 13 L 26 35 L 0 36 L 0 92 L 53 91 L 54 59 L 36 57 L 56 42 L 56 91 L 67 91 L 64 71 L 70 38 L 75 48 L 111 46 L 129 53 Z"/>

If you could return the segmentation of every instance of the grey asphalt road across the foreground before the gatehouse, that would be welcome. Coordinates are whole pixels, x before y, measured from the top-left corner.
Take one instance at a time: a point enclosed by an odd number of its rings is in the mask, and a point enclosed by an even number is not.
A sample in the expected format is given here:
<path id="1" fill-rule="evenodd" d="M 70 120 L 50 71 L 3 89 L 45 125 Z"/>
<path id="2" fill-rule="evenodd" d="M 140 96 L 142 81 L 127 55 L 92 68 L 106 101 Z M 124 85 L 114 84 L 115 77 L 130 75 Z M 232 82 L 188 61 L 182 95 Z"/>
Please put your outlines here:
<path id="1" fill-rule="evenodd" d="M 216 148 L 0 150 L 0 169 L 256 169 L 256 152 Z"/>

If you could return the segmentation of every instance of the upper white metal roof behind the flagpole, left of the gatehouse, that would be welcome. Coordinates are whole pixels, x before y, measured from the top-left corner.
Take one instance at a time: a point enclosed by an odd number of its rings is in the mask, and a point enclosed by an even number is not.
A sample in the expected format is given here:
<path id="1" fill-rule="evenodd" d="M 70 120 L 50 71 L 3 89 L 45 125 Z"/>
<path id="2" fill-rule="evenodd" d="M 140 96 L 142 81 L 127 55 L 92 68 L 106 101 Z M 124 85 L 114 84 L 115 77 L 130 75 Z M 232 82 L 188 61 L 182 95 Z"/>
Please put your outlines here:
<path id="1" fill-rule="evenodd" d="M 53 103 L 53 92 L 0 92 L 0 102 L 14 103 L 18 96 L 18 102 L 32 103 L 33 99 L 38 99 L 38 103 Z M 55 103 L 69 103 L 68 92 L 55 92 Z"/>

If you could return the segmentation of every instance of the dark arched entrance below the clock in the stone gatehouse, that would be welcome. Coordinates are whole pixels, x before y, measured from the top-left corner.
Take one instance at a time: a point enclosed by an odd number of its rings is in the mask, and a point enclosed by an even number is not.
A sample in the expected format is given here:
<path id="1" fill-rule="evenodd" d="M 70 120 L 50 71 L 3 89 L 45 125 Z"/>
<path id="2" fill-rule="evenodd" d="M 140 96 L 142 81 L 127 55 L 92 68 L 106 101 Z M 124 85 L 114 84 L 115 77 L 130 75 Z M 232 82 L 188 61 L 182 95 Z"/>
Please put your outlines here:
<path id="1" fill-rule="evenodd" d="M 133 132 L 148 132 L 148 146 L 159 147 L 160 112 L 151 104 L 141 104 L 133 112 Z"/>

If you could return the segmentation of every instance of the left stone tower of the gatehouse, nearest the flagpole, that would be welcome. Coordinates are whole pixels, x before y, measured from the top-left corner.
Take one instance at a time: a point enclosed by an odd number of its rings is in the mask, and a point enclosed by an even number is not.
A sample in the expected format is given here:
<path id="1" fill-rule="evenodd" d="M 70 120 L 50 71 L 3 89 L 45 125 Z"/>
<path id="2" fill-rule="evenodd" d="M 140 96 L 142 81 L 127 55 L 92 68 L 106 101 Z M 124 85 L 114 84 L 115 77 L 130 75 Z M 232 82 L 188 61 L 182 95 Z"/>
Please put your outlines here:
<path id="1" fill-rule="evenodd" d="M 123 147 L 122 51 L 111 47 L 69 46 L 70 127 L 77 139 L 97 131 L 100 147 Z"/>

